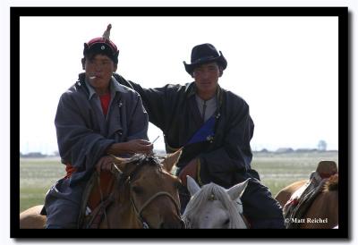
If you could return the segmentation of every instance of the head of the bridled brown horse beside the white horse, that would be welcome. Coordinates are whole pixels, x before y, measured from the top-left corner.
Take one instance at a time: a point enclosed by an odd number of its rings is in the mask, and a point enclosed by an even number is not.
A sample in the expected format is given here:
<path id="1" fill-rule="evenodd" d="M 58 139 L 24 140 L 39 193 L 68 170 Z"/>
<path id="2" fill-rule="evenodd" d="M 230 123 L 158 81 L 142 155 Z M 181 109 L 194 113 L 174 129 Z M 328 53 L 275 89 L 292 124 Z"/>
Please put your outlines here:
<path id="1" fill-rule="evenodd" d="M 180 215 L 179 179 L 171 173 L 181 151 L 159 160 L 157 156 L 115 157 L 121 207 L 130 207 L 139 228 L 183 228 Z"/>

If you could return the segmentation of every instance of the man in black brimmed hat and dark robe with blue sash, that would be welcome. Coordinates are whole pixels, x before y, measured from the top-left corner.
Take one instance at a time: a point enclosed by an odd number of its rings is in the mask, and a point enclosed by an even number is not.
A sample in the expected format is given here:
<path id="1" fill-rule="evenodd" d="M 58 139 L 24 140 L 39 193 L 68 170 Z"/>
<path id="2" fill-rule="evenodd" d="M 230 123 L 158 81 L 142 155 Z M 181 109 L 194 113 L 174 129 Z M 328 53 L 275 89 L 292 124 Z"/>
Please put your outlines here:
<path id="1" fill-rule="evenodd" d="M 281 207 L 251 169 L 254 125 L 249 106 L 217 83 L 226 66 L 215 46 L 202 44 L 192 48 L 192 63 L 184 62 L 194 79 L 184 86 L 143 89 L 117 74 L 115 78 L 141 94 L 149 122 L 164 133 L 166 152 L 183 148 L 176 174 L 184 186 L 186 175 L 200 185 L 215 182 L 225 188 L 250 178 L 242 201 L 251 228 L 285 228 Z M 186 188 L 180 198 L 183 213 L 190 199 Z"/>

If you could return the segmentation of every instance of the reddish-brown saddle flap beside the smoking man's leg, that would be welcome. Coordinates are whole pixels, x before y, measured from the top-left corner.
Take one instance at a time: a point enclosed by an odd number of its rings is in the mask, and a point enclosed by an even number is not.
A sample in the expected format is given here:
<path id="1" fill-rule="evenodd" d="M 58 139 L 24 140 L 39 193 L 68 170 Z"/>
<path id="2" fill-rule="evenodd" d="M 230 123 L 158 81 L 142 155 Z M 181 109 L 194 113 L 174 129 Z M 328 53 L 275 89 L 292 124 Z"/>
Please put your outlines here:
<path id="1" fill-rule="evenodd" d="M 112 173 L 92 173 L 82 195 L 79 228 L 98 229 L 107 207 L 115 200 L 111 194 L 114 184 L 115 177 Z"/>

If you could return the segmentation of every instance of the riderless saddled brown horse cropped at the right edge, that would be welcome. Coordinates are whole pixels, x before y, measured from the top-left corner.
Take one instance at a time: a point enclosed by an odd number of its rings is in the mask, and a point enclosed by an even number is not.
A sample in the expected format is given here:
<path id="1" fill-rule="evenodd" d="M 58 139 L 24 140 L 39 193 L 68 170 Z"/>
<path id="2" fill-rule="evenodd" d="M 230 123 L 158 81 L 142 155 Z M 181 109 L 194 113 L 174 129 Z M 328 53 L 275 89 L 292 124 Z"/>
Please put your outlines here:
<path id="1" fill-rule="evenodd" d="M 286 217 L 300 229 L 331 229 L 338 224 L 338 173 L 336 163 L 322 161 L 317 168 L 320 174 L 320 191 L 311 201 L 304 215 L 299 218 Z M 310 181 L 294 182 L 280 190 L 275 199 L 283 207 L 284 215 L 288 208 L 297 202 L 294 197 L 308 186 Z"/>

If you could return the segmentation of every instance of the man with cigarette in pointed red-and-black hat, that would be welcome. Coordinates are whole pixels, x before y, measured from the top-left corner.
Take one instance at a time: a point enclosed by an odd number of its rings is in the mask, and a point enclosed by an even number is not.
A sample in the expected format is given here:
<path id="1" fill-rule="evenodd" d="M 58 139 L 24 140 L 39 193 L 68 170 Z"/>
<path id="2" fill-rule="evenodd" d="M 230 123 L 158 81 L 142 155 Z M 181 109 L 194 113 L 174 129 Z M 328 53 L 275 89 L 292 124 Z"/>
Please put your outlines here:
<path id="1" fill-rule="evenodd" d="M 111 156 L 150 153 L 148 114 L 140 95 L 112 76 L 118 49 L 103 38 L 84 44 L 85 72 L 61 96 L 55 128 L 66 176 L 48 190 L 45 199 L 47 228 L 77 228 L 82 192 L 95 170 L 109 171 Z"/>

